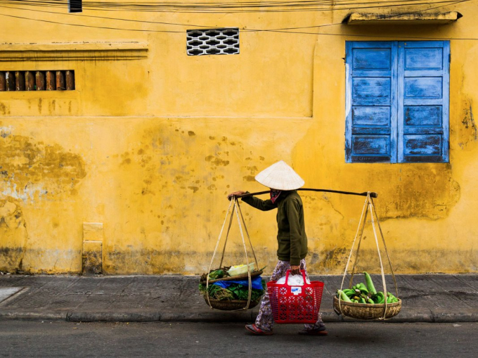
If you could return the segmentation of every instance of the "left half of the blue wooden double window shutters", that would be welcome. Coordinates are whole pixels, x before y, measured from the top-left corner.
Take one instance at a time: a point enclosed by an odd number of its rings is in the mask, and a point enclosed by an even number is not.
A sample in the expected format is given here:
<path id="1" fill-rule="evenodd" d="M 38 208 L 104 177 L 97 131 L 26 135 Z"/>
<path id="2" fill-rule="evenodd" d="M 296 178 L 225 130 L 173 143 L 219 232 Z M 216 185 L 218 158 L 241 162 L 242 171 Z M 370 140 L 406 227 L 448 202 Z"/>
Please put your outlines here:
<path id="1" fill-rule="evenodd" d="M 396 162 L 396 41 L 347 41 L 347 162 Z"/>

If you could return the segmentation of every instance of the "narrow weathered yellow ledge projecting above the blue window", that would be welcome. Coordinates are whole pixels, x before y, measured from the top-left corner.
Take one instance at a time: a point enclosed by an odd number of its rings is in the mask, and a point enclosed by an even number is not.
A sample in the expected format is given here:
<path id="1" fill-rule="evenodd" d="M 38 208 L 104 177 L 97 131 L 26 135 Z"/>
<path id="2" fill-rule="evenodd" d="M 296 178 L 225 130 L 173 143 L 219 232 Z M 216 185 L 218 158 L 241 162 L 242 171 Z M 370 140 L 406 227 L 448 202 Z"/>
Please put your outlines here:
<path id="1" fill-rule="evenodd" d="M 444 25 L 453 23 L 462 18 L 463 15 L 458 11 L 449 13 L 406 13 L 406 14 L 375 14 L 375 13 L 351 13 L 347 15 L 342 23 L 347 25 Z"/>

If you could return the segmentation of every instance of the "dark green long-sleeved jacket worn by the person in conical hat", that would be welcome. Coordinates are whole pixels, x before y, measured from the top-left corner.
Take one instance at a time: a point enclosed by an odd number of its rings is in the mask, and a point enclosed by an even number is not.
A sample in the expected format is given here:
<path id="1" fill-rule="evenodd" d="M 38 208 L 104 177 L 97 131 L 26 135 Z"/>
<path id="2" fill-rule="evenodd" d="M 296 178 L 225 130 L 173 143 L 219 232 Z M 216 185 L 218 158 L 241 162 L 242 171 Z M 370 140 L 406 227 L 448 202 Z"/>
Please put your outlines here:
<path id="1" fill-rule="evenodd" d="M 299 265 L 307 255 L 307 236 L 304 225 L 304 208 L 297 191 L 283 191 L 276 203 L 246 196 L 243 201 L 259 210 L 267 211 L 277 208 L 277 257 L 281 261 L 290 261 Z"/>

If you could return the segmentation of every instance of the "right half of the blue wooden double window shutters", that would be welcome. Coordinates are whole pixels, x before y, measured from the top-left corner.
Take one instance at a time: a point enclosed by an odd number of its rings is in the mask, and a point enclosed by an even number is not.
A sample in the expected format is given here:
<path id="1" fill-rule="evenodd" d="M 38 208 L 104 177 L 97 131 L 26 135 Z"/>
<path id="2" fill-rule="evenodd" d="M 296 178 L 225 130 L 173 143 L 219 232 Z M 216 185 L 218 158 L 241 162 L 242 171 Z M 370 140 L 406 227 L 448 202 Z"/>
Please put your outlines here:
<path id="1" fill-rule="evenodd" d="M 399 42 L 399 162 L 448 162 L 449 58 L 449 41 Z"/>

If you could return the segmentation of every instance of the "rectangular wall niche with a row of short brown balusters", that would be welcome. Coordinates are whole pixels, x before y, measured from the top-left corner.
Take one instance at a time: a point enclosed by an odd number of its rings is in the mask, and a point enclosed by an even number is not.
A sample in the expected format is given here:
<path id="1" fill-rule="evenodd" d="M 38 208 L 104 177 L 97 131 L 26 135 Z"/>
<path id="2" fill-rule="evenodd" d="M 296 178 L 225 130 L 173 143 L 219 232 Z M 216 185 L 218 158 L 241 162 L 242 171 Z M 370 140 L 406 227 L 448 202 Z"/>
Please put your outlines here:
<path id="1" fill-rule="evenodd" d="M 72 91 L 75 71 L 0 71 L 0 91 Z"/>

